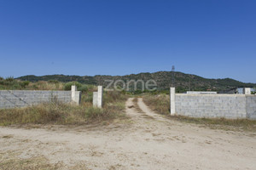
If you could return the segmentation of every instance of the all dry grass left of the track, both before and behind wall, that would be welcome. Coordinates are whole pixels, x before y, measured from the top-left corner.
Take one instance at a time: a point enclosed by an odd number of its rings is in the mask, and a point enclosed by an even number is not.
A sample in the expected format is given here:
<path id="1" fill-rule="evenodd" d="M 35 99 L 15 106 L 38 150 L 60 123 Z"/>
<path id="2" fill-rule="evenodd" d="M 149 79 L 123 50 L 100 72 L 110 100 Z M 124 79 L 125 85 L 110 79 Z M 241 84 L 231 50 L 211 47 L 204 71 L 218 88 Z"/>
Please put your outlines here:
<path id="1" fill-rule="evenodd" d="M 77 85 L 82 91 L 81 105 L 68 105 L 52 100 L 50 103 L 33 105 L 26 108 L 1 109 L 0 125 L 11 124 L 84 124 L 89 122 L 110 121 L 114 118 L 124 117 L 125 94 L 113 91 L 104 92 L 102 109 L 92 106 L 92 94 L 96 86 L 85 85 L 79 82 L 28 82 L 19 81 L 13 77 L 6 79 L 0 77 L 1 89 L 27 89 L 27 90 L 70 90 L 72 85 Z"/>

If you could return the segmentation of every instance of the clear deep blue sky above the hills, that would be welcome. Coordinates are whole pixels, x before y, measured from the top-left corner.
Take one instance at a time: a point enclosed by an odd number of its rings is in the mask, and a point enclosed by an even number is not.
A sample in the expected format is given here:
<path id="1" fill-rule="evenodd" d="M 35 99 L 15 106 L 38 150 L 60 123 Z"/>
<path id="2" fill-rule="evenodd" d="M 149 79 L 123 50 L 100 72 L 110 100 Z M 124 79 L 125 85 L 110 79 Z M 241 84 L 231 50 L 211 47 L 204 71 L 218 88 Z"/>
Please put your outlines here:
<path id="1" fill-rule="evenodd" d="M 256 82 L 255 0 L 0 0 L 0 76 L 176 71 Z"/>

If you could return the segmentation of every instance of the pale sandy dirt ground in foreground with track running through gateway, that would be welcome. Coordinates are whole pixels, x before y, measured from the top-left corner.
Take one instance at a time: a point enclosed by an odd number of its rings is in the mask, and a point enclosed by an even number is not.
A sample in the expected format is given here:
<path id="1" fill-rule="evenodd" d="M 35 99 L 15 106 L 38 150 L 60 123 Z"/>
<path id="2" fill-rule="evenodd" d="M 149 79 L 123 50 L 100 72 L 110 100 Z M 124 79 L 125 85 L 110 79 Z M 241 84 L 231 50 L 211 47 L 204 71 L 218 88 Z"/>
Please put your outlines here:
<path id="1" fill-rule="evenodd" d="M 142 111 L 126 102 L 131 121 L 108 126 L 0 127 L 0 153 L 44 156 L 61 169 L 256 169 L 255 133 L 176 122 L 137 104 Z"/>

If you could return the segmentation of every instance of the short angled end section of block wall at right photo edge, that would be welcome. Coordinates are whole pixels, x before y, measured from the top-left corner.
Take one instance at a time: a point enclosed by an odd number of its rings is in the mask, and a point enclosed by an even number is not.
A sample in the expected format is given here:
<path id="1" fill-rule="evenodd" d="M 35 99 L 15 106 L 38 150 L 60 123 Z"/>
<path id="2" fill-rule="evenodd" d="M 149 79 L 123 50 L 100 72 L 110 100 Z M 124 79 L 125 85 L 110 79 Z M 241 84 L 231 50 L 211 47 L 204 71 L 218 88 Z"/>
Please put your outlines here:
<path id="1" fill-rule="evenodd" d="M 246 95 L 247 117 L 256 119 L 256 95 Z"/>

